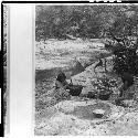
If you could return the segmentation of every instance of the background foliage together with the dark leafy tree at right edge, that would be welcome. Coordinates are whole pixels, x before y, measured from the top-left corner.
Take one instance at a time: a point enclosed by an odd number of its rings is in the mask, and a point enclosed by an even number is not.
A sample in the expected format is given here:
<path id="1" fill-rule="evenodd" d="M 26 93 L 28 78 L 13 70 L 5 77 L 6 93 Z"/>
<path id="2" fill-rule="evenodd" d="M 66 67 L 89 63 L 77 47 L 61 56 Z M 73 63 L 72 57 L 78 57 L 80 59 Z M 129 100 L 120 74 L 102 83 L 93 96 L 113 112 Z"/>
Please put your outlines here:
<path id="1" fill-rule="evenodd" d="M 110 39 L 114 70 L 138 72 L 138 7 L 135 4 L 38 6 L 36 41 L 41 39 Z"/>

